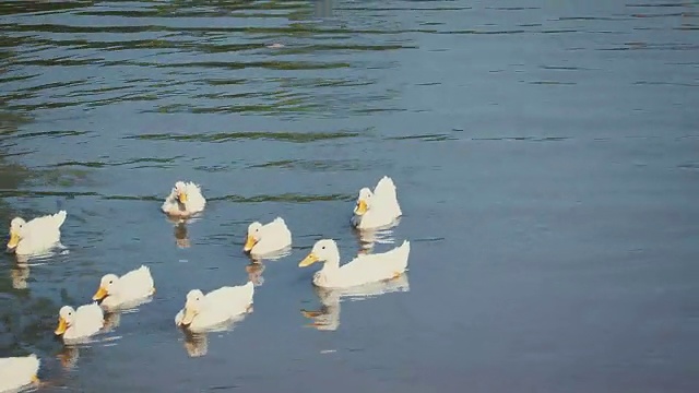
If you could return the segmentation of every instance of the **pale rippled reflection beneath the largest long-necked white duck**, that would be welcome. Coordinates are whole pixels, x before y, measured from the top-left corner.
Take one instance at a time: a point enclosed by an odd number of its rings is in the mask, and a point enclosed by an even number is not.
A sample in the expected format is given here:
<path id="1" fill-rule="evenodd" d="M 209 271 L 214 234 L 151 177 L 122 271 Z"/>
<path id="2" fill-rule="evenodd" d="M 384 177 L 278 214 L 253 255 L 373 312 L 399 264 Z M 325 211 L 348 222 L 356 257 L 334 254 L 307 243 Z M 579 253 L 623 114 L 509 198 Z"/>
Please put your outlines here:
<path id="1" fill-rule="evenodd" d="M 340 326 L 340 302 L 342 298 L 365 300 L 383 294 L 410 291 L 407 273 L 382 282 L 375 282 L 350 288 L 323 288 L 313 285 L 313 290 L 320 300 L 318 310 L 301 310 L 301 315 L 312 320 L 307 326 L 319 331 L 335 331 Z"/>

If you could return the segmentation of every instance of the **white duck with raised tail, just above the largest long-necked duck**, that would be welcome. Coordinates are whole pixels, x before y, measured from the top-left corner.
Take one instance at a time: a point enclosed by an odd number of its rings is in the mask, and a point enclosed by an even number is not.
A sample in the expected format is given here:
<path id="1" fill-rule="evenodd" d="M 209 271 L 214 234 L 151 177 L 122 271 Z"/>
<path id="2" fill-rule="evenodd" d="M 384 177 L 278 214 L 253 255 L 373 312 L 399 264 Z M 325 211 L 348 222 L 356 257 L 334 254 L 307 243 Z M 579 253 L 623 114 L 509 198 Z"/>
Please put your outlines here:
<path id="1" fill-rule="evenodd" d="M 359 229 L 386 227 L 401 215 L 403 212 L 398 204 L 395 184 L 390 177 L 384 176 L 376 184 L 374 192 L 367 187 L 359 190 L 352 224 Z"/>

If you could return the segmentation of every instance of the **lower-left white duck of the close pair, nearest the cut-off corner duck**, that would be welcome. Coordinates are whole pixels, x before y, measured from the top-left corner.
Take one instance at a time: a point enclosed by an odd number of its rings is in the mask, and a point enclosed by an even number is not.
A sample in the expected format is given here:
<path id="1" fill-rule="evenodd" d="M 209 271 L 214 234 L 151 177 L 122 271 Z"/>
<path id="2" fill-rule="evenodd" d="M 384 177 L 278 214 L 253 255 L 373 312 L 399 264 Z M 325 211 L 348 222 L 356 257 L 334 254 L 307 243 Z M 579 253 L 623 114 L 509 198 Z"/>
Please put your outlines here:
<path id="1" fill-rule="evenodd" d="M 78 310 L 63 306 L 58 312 L 58 327 L 54 333 L 62 335 L 64 342 L 86 338 L 99 332 L 104 321 L 104 313 L 97 303 L 80 306 Z"/>

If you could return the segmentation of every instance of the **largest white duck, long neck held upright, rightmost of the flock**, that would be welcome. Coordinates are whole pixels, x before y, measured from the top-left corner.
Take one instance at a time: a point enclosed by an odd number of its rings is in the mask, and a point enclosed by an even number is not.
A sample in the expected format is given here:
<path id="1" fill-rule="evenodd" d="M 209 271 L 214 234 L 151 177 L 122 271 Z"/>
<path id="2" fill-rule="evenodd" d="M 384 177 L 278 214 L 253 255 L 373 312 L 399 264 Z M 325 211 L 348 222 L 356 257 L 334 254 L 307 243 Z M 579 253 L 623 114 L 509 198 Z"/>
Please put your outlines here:
<path id="1" fill-rule="evenodd" d="M 381 279 L 398 277 L 407 270 L 407 257 L 411 243 L 403 243 L 390 251 L 375 254 L 360 254 L 340 266 L 340 250 L 332 239 L 318 240 L 311 252 L 298 265 L 311 265 L 324 262 L 323 267 L 313 274 L 313 284 L 325 288 L 346 288 Z"/>

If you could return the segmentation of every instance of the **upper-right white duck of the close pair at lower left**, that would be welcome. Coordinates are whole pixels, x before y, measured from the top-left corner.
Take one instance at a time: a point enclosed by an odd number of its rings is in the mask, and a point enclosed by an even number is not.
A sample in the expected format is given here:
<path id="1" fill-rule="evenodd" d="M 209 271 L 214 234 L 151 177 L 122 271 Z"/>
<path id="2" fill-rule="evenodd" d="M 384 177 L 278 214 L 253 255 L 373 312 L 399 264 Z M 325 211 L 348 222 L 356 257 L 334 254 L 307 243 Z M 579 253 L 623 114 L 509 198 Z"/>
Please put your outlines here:
<path id="1" fill-rule="evenodd" d="M 151 270 L 141 265 L 121 277 L 116 274 L 104 275 L 92 299 L 102 301 L 100 306 L 106 309 L 129 308 L 132 305 L 138 306 L 141 300 L 145 300 L 153 294 L 155 294 L 155 286 Z"/>

